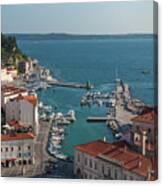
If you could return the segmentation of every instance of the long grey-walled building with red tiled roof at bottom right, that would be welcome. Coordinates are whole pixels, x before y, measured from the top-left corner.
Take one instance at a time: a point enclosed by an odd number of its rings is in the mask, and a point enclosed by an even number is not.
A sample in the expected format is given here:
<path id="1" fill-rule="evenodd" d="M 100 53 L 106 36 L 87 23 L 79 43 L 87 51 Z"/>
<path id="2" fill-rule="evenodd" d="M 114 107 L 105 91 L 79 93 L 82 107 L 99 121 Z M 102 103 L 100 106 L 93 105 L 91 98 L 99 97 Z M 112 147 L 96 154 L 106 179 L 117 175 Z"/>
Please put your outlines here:
<path id="1" fill-rule="evenodd" d="M 75 147 L 74 174 L 85 179 L 154 180 L 155 163 L 125 143 L 97 140 Z"/>

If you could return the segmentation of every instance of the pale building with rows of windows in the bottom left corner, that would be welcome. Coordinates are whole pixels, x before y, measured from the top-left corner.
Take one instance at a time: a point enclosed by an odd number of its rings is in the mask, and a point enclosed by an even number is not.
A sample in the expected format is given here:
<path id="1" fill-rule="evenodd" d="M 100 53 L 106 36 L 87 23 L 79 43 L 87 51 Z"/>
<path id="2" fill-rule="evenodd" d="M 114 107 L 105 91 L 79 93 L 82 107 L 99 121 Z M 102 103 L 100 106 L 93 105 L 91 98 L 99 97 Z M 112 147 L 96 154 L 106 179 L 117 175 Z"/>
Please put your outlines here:
<path id="1" fill-rule="evenodd" d="M 34 135 L 26 133 L 8 133 L 1 135 L 1 166 L 25 166 L 35 163 Z"/>

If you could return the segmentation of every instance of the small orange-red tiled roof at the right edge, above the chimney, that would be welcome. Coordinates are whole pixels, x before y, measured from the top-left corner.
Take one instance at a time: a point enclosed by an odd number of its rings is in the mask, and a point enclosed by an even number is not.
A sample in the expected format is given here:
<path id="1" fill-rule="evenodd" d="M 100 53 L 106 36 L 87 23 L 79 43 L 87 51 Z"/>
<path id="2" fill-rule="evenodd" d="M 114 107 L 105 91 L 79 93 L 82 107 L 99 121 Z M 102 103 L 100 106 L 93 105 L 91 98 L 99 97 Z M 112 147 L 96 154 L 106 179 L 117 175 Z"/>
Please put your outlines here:
<path id="1" fill-rule="evenodd" d="M 157 114 L 155 111 L 147 112 L 142 115 L 138 115 L 131 119 L 133 122 L 146 123 L 146 124 L 157 124 Z"/>

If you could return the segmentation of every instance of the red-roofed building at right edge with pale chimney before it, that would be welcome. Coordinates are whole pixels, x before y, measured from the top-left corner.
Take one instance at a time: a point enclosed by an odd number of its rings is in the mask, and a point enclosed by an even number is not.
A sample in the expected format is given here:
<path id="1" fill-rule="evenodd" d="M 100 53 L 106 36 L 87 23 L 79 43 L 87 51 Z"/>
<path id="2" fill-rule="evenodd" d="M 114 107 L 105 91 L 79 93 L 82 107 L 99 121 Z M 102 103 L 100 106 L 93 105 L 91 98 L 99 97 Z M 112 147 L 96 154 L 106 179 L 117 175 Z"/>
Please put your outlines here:
<path id="1" fill-rule="evenodd" d="M 132 119 L 130 139 L 134 150 L 147 156 L 157 156 L 157 113 L 147 110 Z"/>

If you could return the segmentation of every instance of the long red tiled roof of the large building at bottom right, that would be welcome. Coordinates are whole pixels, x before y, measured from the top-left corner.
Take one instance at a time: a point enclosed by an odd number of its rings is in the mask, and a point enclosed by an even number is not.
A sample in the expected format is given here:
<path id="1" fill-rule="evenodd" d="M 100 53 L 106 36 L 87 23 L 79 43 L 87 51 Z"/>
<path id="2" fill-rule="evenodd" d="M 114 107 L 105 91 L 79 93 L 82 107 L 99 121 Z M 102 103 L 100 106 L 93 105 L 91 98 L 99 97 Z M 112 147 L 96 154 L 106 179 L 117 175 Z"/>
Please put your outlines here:
<path id="1" fill-rule="evenodd" d="M 153 170 L 153 168 L 156 167 L 154 165 L 156 162 L 153 164 L 150 158 L 130 151 L 124 142 L 111 144 L 97 140 L 78 145 L 75 149 L 103 159 L 104 161 L 116 163 L 128 171 L 144 177 L 148 175 L 149 170 Z"/>

